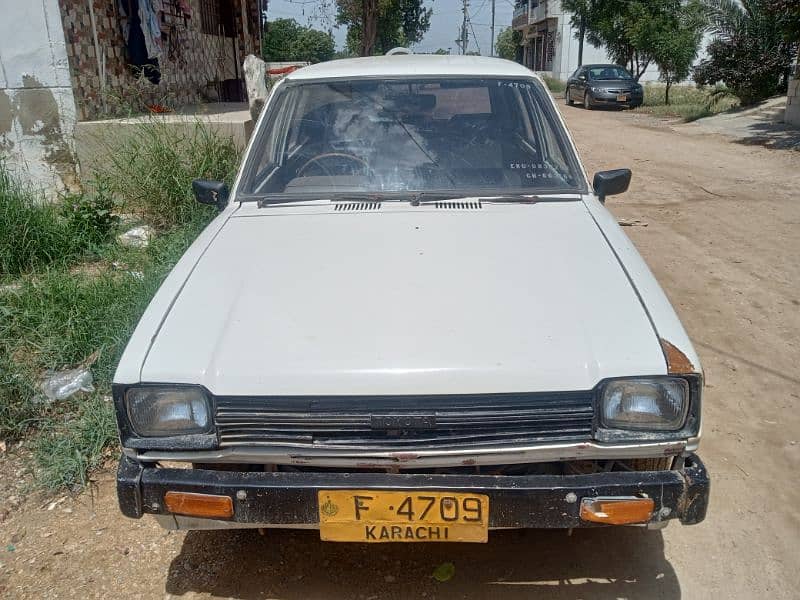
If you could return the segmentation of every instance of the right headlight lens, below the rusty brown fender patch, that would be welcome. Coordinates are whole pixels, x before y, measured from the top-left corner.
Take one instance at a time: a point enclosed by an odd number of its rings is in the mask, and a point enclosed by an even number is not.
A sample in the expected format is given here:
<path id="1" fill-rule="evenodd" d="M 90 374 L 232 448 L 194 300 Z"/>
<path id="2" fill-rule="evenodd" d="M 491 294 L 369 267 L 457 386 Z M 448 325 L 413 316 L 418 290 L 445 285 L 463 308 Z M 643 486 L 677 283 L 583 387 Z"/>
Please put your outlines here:
<path id="1" fill-rule="evenodd" d="M 601 393 L 601 420 L 611 429 L 676 431 L 689 408 L 689 384 L 678 377 L 612 380 Z"/>

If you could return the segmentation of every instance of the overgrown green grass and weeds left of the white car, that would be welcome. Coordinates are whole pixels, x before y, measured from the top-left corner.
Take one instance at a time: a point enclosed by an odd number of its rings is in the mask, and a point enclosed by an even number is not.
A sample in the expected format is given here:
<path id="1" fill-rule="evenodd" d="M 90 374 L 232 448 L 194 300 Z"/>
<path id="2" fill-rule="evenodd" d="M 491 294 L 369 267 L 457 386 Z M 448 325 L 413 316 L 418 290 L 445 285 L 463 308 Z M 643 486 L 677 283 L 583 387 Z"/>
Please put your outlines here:
<path id="1" fill-rule="evenodd" d="M 153 125 L 114 151 L 115 166 L 91 197 L 46 204 L 0 178 L 0 218 L 8 219 L 0 221 L 0 283 L 13 286 L 0 288 L 0 439 L 25 440 L 39 484 L 50 489 L 85 483 L 115 443 L 108 398 L 122 351 L 164 277 L 215 215 L 194 202 L 191 179 L 231 181 L 239 160 L 232 140 L 202 126 L 181 134 Z M 116 243 L 110 202 L 157 228 L 147 248 Z M 96 392 L 45 399 L 46 371 L 93 356 Z"/>

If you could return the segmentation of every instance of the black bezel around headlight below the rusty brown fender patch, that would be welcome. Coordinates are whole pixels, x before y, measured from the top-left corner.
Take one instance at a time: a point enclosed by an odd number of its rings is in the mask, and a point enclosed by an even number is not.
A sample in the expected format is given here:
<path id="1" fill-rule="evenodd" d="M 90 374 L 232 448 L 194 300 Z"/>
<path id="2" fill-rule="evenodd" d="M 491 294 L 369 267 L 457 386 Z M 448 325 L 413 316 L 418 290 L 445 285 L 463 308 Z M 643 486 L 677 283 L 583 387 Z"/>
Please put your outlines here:
<path id="1" fill-rule="evenodd" d="M 636 379 L 683 379 L 689 386 L 689 407 L 683 427 L 678 430 L 648 430 L 648 429 L 616 429 L 605 427 L 602 422 L 603 407 L 602 394 L 606 384 L 610 381 L 636 380 Z M 700 415 L 702 411 L 703 377 L 700 374 L 686 375 L 640 375 L 632 377 L 613 377 L 604 379 L 595 387 L 594 406 L 594 439 L 605 443 L 625 442 L 669 442 L 697 437 L 700 433 Z"/>

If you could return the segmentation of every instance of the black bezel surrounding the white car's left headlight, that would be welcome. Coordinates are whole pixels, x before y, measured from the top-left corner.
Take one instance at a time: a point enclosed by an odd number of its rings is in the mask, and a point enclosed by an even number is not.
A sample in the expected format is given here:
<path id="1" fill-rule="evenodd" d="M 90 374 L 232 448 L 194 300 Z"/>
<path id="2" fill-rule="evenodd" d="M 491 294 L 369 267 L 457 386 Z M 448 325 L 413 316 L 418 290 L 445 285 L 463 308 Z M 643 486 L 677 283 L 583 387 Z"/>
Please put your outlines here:
<path id="1" fill-rule="evenodd" d="M 128 418 L 125 396 L 128 390 L 143 387 L 192 388 L 201 390 L 209 403 L 211 417 L 211 428 L 209 432 L 159 437 L 145 437 L 136 433 Z M 119 427 L 120 444 L 123 448 L 131 448 L 133 450 L 213 450 L 219 447 L 219 437 L 217 436 L 216 424 L 214 423 L 214 416 L 216 415 L 214 395 L 203 386 L 170 383 L 114 384 L 112 386 L 112 395 L 114 397 L 114 412 L 117 416 L 117 426 Z"/>

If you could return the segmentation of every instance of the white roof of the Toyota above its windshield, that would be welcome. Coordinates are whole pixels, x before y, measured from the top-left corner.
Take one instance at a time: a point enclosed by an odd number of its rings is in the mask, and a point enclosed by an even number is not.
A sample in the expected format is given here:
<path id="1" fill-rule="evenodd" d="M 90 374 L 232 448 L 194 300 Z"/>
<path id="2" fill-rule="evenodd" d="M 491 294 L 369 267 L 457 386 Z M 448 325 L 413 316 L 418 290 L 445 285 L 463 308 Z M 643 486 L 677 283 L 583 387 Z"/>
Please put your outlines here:
<path id="1" fill-rule="evenodd" d="M 430 76 L 533 77 L 538 76 L 510 60 L 486 56 L 407 54 L 346 58 L 317 63 L 298 69 L 287 80 L 357 77 L 430 77 Z"/>

